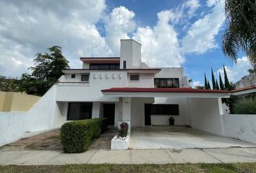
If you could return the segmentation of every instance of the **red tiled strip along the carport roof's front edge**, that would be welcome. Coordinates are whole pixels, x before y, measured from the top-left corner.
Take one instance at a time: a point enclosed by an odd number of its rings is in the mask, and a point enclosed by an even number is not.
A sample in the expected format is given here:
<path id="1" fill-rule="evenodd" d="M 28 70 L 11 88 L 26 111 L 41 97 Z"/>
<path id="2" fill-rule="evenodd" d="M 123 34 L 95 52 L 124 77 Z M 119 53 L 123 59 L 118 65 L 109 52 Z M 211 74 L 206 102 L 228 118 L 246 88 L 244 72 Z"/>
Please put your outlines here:
<path id="1" fill-rule="evenodd" d="M 184 88 L 111 88 L 103 89 L 101 92 L 195 92 L 195 93 L 229 93 L 224 90 L 211 90 L 211 89 L 192 89 L 189 87 Z"/>

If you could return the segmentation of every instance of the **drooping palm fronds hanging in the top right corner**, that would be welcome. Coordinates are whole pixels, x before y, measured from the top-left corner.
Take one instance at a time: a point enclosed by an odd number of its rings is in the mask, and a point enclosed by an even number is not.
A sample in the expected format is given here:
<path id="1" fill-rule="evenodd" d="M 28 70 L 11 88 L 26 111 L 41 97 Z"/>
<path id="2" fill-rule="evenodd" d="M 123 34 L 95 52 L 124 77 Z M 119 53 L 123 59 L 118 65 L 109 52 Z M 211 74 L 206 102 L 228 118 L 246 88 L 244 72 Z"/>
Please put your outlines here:
<path id="1" fill-rule="evenodd" d="M 225 0 L 227 28 L 222 37 L 225 56 L 237 60 L 242 50 L 256 67 L 256 5 L 255 0 Z"/>

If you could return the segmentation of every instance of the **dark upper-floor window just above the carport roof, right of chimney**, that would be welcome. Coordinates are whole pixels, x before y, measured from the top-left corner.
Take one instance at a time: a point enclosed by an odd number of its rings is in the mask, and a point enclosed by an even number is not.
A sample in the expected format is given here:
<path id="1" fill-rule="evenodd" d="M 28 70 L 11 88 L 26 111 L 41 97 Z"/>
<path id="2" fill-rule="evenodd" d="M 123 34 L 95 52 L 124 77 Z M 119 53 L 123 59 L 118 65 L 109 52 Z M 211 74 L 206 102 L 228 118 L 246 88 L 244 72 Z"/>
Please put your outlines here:
<path id="1" fill-rule="evenodd" d="M 179 78 L 155 78 L 155 88 L 179 88 Z"/>

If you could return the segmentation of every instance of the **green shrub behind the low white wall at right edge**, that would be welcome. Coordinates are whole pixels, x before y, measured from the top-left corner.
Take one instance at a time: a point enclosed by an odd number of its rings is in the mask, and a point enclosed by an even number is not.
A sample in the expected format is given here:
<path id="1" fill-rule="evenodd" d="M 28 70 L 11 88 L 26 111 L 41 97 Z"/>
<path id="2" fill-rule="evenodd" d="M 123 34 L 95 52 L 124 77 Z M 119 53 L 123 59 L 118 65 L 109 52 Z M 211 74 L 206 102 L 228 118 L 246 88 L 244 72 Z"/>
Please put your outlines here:
<path id="1" fill-rule="evenodd" d="M 256 98 L 239 99 L 234 103 L 234 114 L 256 114 Z"/>

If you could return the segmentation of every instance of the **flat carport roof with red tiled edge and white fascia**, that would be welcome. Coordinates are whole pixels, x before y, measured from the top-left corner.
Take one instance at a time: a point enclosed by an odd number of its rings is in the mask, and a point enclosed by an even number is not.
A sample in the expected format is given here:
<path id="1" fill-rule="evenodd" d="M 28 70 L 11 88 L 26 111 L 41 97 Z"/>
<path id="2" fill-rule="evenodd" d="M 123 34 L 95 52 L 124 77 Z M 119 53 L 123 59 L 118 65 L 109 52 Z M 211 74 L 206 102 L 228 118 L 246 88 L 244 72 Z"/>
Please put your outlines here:
<path id="1" fill-rule="evenodd" d="M 182 88 L 132 88 L 120 87 L 101 90 L 104 95 L 112 97 L 194 97 L 221 98 L 229 97 L 229 91 L 211 89 Z"/>

